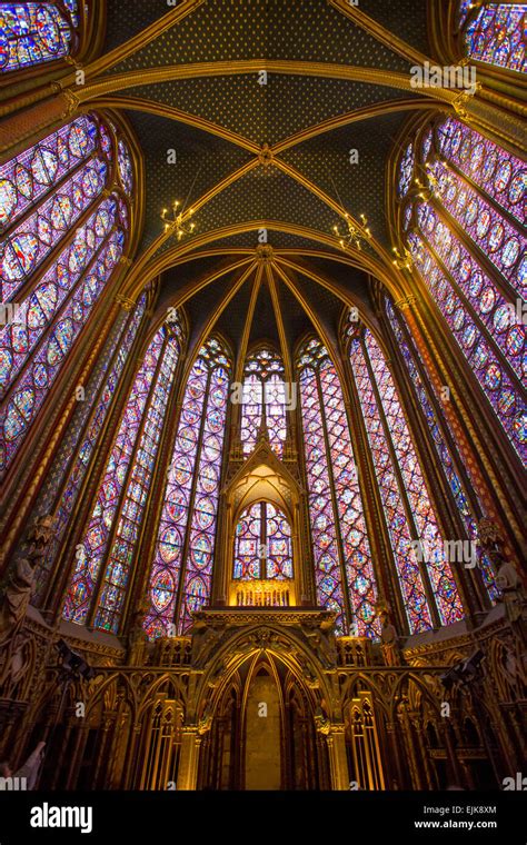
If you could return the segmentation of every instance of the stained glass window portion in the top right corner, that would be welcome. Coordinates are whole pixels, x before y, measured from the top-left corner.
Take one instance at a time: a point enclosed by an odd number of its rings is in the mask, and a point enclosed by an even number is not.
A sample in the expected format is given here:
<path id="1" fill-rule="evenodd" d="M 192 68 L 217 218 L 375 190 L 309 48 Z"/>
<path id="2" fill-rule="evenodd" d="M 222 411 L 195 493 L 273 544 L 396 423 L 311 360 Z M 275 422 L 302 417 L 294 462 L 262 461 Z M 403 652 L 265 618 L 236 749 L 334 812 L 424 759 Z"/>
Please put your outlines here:
<path id="1" fill-rule="evenodd" d="M 525 3 L 485 3 L 467 20 L 469 8 L 461 2 L 464 40 L 471 59 L 525 71 Z"/>

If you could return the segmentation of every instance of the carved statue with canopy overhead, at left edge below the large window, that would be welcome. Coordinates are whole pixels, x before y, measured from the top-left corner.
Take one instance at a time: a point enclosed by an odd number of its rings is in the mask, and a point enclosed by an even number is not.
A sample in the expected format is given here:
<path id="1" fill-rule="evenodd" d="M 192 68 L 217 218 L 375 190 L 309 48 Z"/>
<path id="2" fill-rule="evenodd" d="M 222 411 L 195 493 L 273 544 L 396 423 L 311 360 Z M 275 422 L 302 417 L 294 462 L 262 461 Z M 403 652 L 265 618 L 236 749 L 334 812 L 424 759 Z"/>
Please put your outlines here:
<path id="1" fill-rule="evenodd" d="M 0 645 L 6 645 L 21 628 L 33 592 L 37 564 L 46 557 L 53 537 L 54 517 L 38 517 L 6 581 L 0 587 Z"/>

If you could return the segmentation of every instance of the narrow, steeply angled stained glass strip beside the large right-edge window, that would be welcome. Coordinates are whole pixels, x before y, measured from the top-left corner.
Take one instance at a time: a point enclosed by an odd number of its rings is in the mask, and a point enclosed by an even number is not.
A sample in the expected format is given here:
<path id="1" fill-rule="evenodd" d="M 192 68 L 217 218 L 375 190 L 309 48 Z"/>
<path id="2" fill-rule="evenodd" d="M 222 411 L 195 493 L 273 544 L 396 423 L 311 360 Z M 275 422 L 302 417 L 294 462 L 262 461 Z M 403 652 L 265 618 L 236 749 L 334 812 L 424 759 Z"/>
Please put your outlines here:
<path id="1" fill-rule="evenodd" d="M 398 349 L 402 356 L 402 360 L 408 370 L 408 375 L 414 385 L 416 396 L 419 405 L 422 409 L 426 422 L 430 429 L 431 441 L 437 453 L 438 465 L 443 468 L 443 471 L 448 481 L 448 487 L 456 503 L 457 509 L 465 525 L 467 537 L 471 541 L 476 541 L 478 538 L 477 521 L 483 516 L 483 508 L 478 501 L 478 514 L 476 515 L 470 506 L 470 503 L 465 494 L 464 486 L 460 480 L 460 473 L 456 467 L 456 461 L 459 461 L 459 455 L 454 446 L 447 444 L 444 429 L 447 426 L 446 419 L 438 408 L 440 405 L 434 402 L 430 396 L 430 386 L 425 378 L 421 378 L 419 368 L 420 356 L 412 344 L 411 337 L 402 328 L 401 319 L 396 315 L 395 308 L 391 301 L 385 299 L 385 308 L 390 326 L 392 328 L 395 338 L 397 340 Z M 455 459 L 454 456 L 455 455 Z M 465 467 L 467 469 L 467 467 Z M 476 495 L 476 493 L 474 494 Z M 489 593 L 490 598 L 496 599 L 498 593 L 496 589 L 495 576 L 490 560 L 486 555 L 481 557 L 481 575 L 485 586 Z"/>

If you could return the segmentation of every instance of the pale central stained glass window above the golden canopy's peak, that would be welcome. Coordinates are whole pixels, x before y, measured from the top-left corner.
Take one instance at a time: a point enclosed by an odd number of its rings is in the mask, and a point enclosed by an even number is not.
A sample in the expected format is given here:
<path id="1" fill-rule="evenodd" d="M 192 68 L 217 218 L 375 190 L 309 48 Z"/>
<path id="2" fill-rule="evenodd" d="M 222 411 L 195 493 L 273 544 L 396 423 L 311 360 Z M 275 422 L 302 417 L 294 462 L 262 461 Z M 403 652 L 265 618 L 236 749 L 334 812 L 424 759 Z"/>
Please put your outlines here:
<path id="1" fill-rule="evenodd" d="M 264 414 L 271 448 L 277 455 L 282 454 L 287 436 L 286 399 L 281 358 L 270 349 L 253 352 L 243 369 L 241 441 L 246 455 L 256 446 Z"/>

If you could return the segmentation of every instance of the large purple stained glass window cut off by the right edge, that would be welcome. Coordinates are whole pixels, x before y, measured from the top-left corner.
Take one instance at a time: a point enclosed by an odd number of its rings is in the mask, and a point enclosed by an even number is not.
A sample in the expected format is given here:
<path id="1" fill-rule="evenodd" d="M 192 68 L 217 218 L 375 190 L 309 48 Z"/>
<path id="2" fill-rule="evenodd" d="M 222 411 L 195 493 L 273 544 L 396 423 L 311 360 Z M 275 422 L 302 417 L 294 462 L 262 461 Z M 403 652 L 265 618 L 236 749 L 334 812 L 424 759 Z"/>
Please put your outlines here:
<path id="1" fill-rule="evenodd" d="M 417 182 L 399 200 L 406 246 L 525 464 L 525 165 L 455 118 L 425 127 L 416 148 Z"/>

